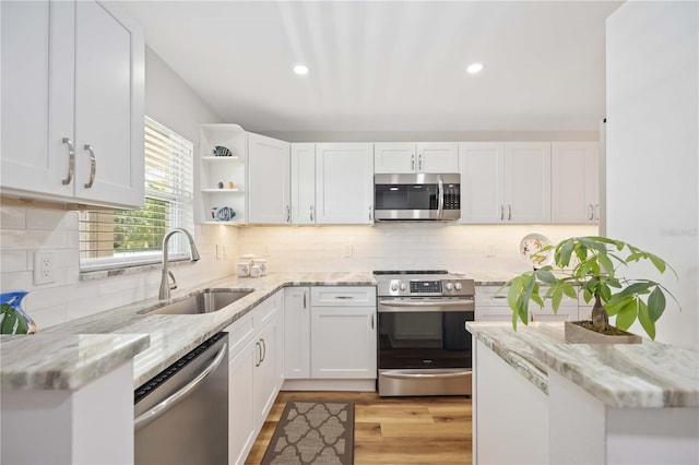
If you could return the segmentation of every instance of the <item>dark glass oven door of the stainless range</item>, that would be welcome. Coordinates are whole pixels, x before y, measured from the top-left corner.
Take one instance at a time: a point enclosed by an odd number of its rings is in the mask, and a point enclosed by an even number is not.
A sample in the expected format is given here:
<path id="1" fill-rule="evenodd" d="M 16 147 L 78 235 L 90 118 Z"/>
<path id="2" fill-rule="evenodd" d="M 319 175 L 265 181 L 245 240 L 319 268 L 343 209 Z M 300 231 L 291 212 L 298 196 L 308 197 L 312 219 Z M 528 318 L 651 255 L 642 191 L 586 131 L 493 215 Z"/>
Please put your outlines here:
<path id="1" fill-rule="evenodd" d="M 471 368 L 473 311 L 379 312 L 379 368 Z"/>

